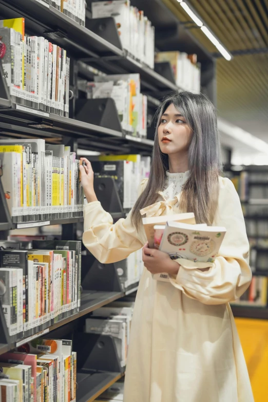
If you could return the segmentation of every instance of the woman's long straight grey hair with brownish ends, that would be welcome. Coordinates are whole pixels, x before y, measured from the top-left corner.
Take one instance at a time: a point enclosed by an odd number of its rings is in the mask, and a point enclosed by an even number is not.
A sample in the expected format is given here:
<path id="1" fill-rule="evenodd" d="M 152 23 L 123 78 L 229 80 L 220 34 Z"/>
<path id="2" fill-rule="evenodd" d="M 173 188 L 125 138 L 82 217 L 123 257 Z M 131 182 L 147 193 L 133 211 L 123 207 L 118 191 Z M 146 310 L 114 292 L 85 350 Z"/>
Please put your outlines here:
<path id="1" fill-rule="evenodd" d="M 159 197 L 158 192 L 164 187 L 168 155 L 160 150 L 158 127 L 162 114 L 171 104 L 184 116 L 193 130 L 193 138 L 188 150 L 190 175 L 183 186 L 180 211 L 194 212 L 197 223 L 211 225 L 218 206 L 221 152 L 215 107 L 203 94 L 176 92 L 168 95 L 157 111 L 158 120 L 150 176 L 131 215 L 132 223 L 137 229 L 141 221 L 140 209 L 154 204 Z"/>

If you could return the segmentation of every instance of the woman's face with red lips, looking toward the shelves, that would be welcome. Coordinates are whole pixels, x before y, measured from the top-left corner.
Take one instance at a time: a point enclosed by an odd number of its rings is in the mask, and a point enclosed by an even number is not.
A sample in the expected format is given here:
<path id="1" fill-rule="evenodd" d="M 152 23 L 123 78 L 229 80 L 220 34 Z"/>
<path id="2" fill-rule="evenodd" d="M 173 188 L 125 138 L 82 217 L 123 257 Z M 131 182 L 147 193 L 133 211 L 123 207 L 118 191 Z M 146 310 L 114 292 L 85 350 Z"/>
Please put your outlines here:
<path id="1" fill-rule="evenodd" d="M 188 151 L 192 137 L 192 129 L 172 103 L 162 114 L 158 127 L 161 151 L 168 155 Z"/>

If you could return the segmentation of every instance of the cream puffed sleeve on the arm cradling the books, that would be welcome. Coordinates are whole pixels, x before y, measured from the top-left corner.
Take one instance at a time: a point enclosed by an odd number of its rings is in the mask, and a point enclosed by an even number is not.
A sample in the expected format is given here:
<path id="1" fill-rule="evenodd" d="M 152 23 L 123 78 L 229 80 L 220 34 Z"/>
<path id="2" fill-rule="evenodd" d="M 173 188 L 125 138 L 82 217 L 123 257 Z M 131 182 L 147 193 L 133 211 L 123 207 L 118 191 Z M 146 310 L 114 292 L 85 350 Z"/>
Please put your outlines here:
<path id="1" fill-rule="evenodd" d="M 231 180 L 219 178 L 218 211 L 214 226 L 226 234 L 214 263 L 178 259 L 177 277 L 170 282 L 186 296 L 204 304 L 222 304 L 239 298 L 248 288 L 252 272 L 248 265 L 249 244 L 240 200 Z"/>

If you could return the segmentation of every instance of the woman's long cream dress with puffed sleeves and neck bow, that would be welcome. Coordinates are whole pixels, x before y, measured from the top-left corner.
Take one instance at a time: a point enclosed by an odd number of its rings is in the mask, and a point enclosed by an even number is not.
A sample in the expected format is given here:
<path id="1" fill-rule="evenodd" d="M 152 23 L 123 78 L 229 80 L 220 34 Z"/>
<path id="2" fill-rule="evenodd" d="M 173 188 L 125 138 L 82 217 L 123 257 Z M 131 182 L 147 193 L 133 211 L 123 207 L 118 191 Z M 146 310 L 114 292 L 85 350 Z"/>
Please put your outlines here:
<path id="1" fill-rule="evenodd" d="M 167 173 L 159 201 L 146 216 L 178 212 L 185 174 Z M 232 182 L 219 178 L 214 225 L 227 233 L 216 262 L 180 260 L 170 283 L 156 281 L 144 269 L 133 314 L 124 402 L 253 402 L 234 317 L 228 302 L 251 282 L 248 241 L 239 197 Z M 146 180 L 141 184 L 141 191 Z M 83 242 L 103 263 L 126 258 L 146 243 L 130 214 L 113 224 L 100 202 L 84 210 Z M 202 266 L 203 267 L 203 266 Z M 163 267 L 164 271 L 164 267 Z"/>

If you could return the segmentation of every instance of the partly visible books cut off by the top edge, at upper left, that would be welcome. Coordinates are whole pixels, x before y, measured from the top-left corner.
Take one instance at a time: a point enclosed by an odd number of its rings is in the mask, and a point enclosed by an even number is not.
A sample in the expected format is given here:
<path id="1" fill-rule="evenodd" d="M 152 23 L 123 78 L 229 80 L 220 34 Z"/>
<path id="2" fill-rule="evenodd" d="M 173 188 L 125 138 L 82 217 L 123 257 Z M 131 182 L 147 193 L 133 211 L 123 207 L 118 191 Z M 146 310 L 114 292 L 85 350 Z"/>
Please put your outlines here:
<path id="1" fill-rule="evenodd" d="M 86 21 L 86 0 L 35 0 L 56 8 L 80 25 Z"/>

